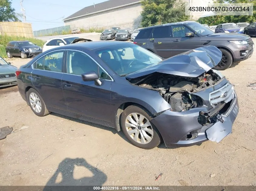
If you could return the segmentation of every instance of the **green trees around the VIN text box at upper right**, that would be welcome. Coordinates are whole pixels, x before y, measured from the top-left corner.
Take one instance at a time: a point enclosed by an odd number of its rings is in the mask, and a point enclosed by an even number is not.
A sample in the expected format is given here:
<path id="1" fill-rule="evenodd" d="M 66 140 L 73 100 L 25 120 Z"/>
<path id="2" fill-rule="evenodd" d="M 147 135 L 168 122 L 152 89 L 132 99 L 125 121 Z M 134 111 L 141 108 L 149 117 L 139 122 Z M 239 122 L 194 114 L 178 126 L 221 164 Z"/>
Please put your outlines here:
<path id="1" fill-rule="evenodd" d="M 221 23 L 252 23 L 256 21 L 256 0 L 217 0 L 215 3 L 253 3 L 254 15 L 215 15 L 211 17 L 199 18 L 201 24 L 218 25 Z"/>

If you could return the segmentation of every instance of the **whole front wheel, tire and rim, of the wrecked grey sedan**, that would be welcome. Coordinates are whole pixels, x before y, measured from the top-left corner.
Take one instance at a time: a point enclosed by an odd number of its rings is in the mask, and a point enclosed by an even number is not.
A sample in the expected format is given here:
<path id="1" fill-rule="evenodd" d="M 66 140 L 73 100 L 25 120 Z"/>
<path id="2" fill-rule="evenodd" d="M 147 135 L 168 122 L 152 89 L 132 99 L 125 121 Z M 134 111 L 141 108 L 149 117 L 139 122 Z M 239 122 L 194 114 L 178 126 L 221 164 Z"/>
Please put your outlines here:
<path id="1" fill-rule="evenodd" d="M 161 135 L 150 122 L 152 118 L 142 107 L 128 106 L 121 115 L 121 128 L 131 144 L 143 149 L 152 149 L 161 142 Z"/>

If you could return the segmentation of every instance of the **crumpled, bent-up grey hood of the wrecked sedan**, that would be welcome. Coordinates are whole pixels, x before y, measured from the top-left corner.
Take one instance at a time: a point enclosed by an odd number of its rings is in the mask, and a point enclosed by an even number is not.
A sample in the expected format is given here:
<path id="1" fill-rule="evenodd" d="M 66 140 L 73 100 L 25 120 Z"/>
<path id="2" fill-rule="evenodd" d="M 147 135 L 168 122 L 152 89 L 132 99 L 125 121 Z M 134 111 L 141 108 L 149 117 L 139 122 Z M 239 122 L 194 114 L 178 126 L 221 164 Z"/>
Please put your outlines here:
<path id="1" fill-rule="evenodd" d="M 204 46 L 128 74 L 126 78 L 138 78 L 154 72 L 183 77 L 198 77 L 218 65 L 221 57 L 222 53 L 217 47 Z"/>

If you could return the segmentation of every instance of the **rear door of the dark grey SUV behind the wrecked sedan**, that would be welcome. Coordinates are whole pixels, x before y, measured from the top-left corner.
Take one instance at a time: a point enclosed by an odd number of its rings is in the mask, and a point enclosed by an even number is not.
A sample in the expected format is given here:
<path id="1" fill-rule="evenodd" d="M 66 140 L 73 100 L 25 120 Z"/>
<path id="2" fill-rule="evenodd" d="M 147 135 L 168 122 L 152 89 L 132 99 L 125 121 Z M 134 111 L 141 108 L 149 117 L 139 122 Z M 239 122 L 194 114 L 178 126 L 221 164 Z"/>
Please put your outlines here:
<path id="1" fill-rule="evenodd" d="M 150 36 L 148 48 L 162 58 L 171 57 L 170 26 L 155 27 Z"/>

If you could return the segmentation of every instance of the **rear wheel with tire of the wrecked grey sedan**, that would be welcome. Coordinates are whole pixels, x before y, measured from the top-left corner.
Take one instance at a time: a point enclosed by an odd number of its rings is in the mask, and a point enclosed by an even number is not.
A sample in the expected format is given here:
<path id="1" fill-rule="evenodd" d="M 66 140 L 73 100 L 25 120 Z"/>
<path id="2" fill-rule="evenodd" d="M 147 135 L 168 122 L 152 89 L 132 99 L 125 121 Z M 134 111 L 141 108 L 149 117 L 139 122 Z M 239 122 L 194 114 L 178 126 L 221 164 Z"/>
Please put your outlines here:
<path id="1" fill-rule="evenodd" d="M 37 116 L 43 117 L 50 113 L 46 108 L 44 100 L 34 88 L 30 88 L 27 91 L 27 99 L 31 110 Z"/>

